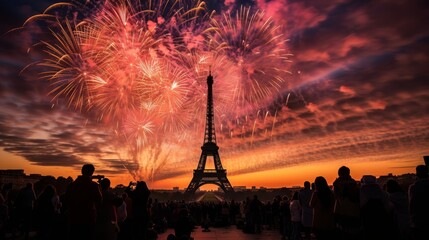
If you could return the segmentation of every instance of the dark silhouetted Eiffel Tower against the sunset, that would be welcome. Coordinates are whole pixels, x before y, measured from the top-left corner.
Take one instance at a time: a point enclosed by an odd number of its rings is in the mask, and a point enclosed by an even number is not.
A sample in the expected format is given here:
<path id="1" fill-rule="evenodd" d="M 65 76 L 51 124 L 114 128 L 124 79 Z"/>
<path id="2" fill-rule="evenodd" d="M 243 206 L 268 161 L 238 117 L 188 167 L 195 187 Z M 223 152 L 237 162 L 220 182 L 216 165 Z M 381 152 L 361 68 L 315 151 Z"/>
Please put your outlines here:
<path id="1" fill-rule="evenodd" d="M 214 126 L 213 111 L 213 77 L 211 73 L 207 77 L 207 115 L 206 129 L 204 134 L 204 144 L 201 147 L 202 153 L 197 169 L 194 170 L 194 177 L 189 183 L 186 193 L 195 193 L 195 191 L 205 184 L 215 184 L 222 188 L 225 193 L 234 192 L 234 189 L 226 178 L 226 169 L 223 169 L 219 157 L 219 147 L 216 145 L 216 132 Z M 206 169 L 207 157 L 212 156 L 215 169 Z"/>

